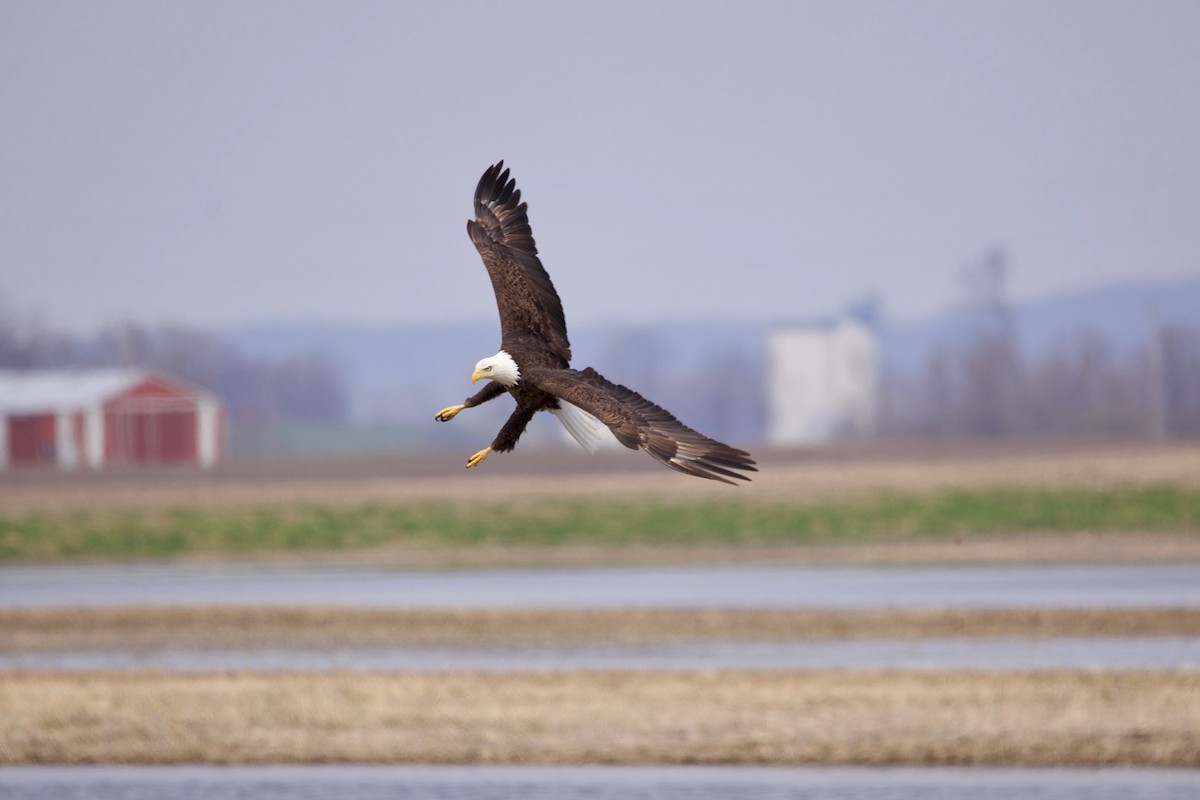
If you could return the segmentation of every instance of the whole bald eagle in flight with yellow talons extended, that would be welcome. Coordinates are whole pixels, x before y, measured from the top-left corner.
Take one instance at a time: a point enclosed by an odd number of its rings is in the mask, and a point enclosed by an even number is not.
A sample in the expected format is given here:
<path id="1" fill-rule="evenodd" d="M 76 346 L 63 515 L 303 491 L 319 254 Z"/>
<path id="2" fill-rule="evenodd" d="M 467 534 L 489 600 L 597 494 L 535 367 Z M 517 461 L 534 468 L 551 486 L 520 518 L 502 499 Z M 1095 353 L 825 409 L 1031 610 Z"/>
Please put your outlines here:
<path id="1" fill-rule="evenodd" d="M 484 173 L 475 187 L 475 218 L 467 221 L 470 241 L 484 259 L 500 309 L 500 351 L 475 365 L 472 383 L 487 385 L 461 405 L 437 413 L 449 422 L 509 392 L 517 407 L 492 444 L 467 459 L 478 467 L 493 450 L 508 452 L 538 411 L 554 414 L 584 449 L 594 452 L 608 427 L 631 450 L 643 449 L 671 469 L 733 483 L 757 471 L 750 453 L 709 439 L 631 389 L 605 379 L 592 367 L 571 369 L 563 303 L 538 259 L 526 204 L 504 162 Z"/>

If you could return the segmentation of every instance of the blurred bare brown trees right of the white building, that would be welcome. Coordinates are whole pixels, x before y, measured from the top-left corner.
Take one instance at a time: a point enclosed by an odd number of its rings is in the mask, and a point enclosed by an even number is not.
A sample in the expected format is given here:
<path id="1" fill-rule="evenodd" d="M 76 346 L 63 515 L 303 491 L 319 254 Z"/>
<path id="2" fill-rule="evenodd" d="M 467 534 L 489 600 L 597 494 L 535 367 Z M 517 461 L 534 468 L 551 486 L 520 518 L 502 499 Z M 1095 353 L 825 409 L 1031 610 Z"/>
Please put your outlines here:
<path id="1" fill-rule="evenodd" d="M 923 372 L 883 381 L 877 432 L 893 438 L 1200 438 L 1200 330 L 1166 325 L 1114 351 L 1080 331 L 1039 359 L 1010 330 L 936 347 Z"/>

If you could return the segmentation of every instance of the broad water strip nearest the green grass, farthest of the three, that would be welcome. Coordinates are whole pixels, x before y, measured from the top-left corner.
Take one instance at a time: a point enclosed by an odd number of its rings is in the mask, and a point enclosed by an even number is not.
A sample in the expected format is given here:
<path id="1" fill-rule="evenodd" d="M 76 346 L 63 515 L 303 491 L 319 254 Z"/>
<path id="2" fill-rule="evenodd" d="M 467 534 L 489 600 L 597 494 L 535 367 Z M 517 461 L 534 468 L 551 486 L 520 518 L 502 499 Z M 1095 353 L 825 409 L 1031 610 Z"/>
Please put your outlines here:
<path id="1" fill-rule="evenodd" d="M 0 569 L 0 607 L 208 603 L 844 609 L 1200 606 L 1200 564 L 443 572 L 168 565 Z"/>

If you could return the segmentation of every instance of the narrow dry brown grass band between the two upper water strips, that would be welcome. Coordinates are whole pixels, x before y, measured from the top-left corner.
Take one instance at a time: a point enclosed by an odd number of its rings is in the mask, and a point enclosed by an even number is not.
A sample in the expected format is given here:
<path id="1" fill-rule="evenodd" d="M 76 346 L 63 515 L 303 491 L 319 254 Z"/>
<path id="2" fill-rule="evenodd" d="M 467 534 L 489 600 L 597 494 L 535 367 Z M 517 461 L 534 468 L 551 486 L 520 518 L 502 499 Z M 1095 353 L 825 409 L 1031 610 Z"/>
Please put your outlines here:
<path id="1" fill-rule="evenodd" d="M 830 612 L 151 607 L 0 610 L 0 651 L 6 652 L 1068 636 L 1200 636 L 1200 609 Z"/>

